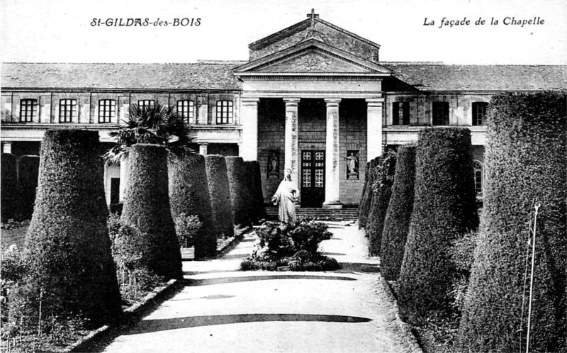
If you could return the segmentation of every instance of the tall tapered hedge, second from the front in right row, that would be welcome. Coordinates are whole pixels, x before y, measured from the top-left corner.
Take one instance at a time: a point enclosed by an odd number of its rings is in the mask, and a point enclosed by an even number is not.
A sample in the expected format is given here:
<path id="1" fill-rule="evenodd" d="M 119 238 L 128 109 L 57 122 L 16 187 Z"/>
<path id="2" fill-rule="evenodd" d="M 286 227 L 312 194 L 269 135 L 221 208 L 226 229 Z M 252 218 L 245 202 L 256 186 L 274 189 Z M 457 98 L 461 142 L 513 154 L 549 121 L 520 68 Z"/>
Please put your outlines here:
<path id="1" fill-rule="evenodd" d="M 471 150 L 466 128 L 430 128 L 418 137 L 413 212 L 398 279 L 400 304 L 417 317 L 448 310 L 456 273 L 451 242 L 478 228 Z"/>

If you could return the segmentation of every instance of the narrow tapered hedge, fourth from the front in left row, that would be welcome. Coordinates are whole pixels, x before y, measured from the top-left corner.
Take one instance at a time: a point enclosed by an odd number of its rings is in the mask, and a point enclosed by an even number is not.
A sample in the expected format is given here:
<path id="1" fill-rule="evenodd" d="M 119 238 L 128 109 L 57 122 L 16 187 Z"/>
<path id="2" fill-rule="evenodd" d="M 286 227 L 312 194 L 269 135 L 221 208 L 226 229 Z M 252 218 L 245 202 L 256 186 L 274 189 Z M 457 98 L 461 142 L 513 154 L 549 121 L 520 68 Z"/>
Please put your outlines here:
<path id="1" fill-rule="evenodd" d="M 213 220 L 220 235 L 232 237 L 235 229 L 232 221 L 232 202 L 230 201 L 225 157 L 207 155 L 205 165 Z"/>

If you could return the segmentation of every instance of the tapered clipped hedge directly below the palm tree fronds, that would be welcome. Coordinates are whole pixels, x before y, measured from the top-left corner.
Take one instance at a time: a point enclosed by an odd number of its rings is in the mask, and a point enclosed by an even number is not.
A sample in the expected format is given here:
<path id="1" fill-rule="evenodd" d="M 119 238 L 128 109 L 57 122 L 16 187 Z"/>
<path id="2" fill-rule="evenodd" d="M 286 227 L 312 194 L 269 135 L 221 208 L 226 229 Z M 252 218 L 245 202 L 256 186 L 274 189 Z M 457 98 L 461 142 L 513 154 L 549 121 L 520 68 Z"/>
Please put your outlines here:
<path id="1" fill-rule="evenodd" d="M 128 165 L 122 220 L 143 234 L 131 246 L 140 252 L 148 271 L 179 277 L 181 252 L 169 205 L 167 150 L 161 145 L 135 144 Z"/>

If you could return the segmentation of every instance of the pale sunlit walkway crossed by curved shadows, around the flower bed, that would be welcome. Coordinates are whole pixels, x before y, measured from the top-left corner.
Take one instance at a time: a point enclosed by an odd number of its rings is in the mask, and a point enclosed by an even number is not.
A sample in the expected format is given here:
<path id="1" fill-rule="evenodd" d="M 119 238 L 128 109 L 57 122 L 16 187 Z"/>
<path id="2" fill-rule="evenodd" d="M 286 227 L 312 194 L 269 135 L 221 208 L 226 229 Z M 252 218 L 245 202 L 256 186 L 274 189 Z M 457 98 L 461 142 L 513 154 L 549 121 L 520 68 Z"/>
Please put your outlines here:
<path id="1" fill-rule="evenodd" d="M 329 223 L 329 272 L 239 271 L 247 235 L 222 259 L 184 262 L 191 282 L 105 352 L 411 352 L 356 224 Z"/>

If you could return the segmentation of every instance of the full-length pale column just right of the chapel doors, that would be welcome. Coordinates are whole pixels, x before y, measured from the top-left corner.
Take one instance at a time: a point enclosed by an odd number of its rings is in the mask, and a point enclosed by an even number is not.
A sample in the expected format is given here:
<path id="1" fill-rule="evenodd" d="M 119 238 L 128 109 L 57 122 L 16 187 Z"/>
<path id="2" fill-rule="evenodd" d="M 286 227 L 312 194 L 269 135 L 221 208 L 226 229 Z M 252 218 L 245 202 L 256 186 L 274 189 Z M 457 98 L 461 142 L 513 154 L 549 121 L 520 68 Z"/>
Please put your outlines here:
<path id="1" fill-rule="evenodd" d="M 327 130 L 325 133 L 325 202 L 323 208 L 342 208 L 340 201 L 340 145 L 339 102 L 325 99 L 327 103 Z"/>

